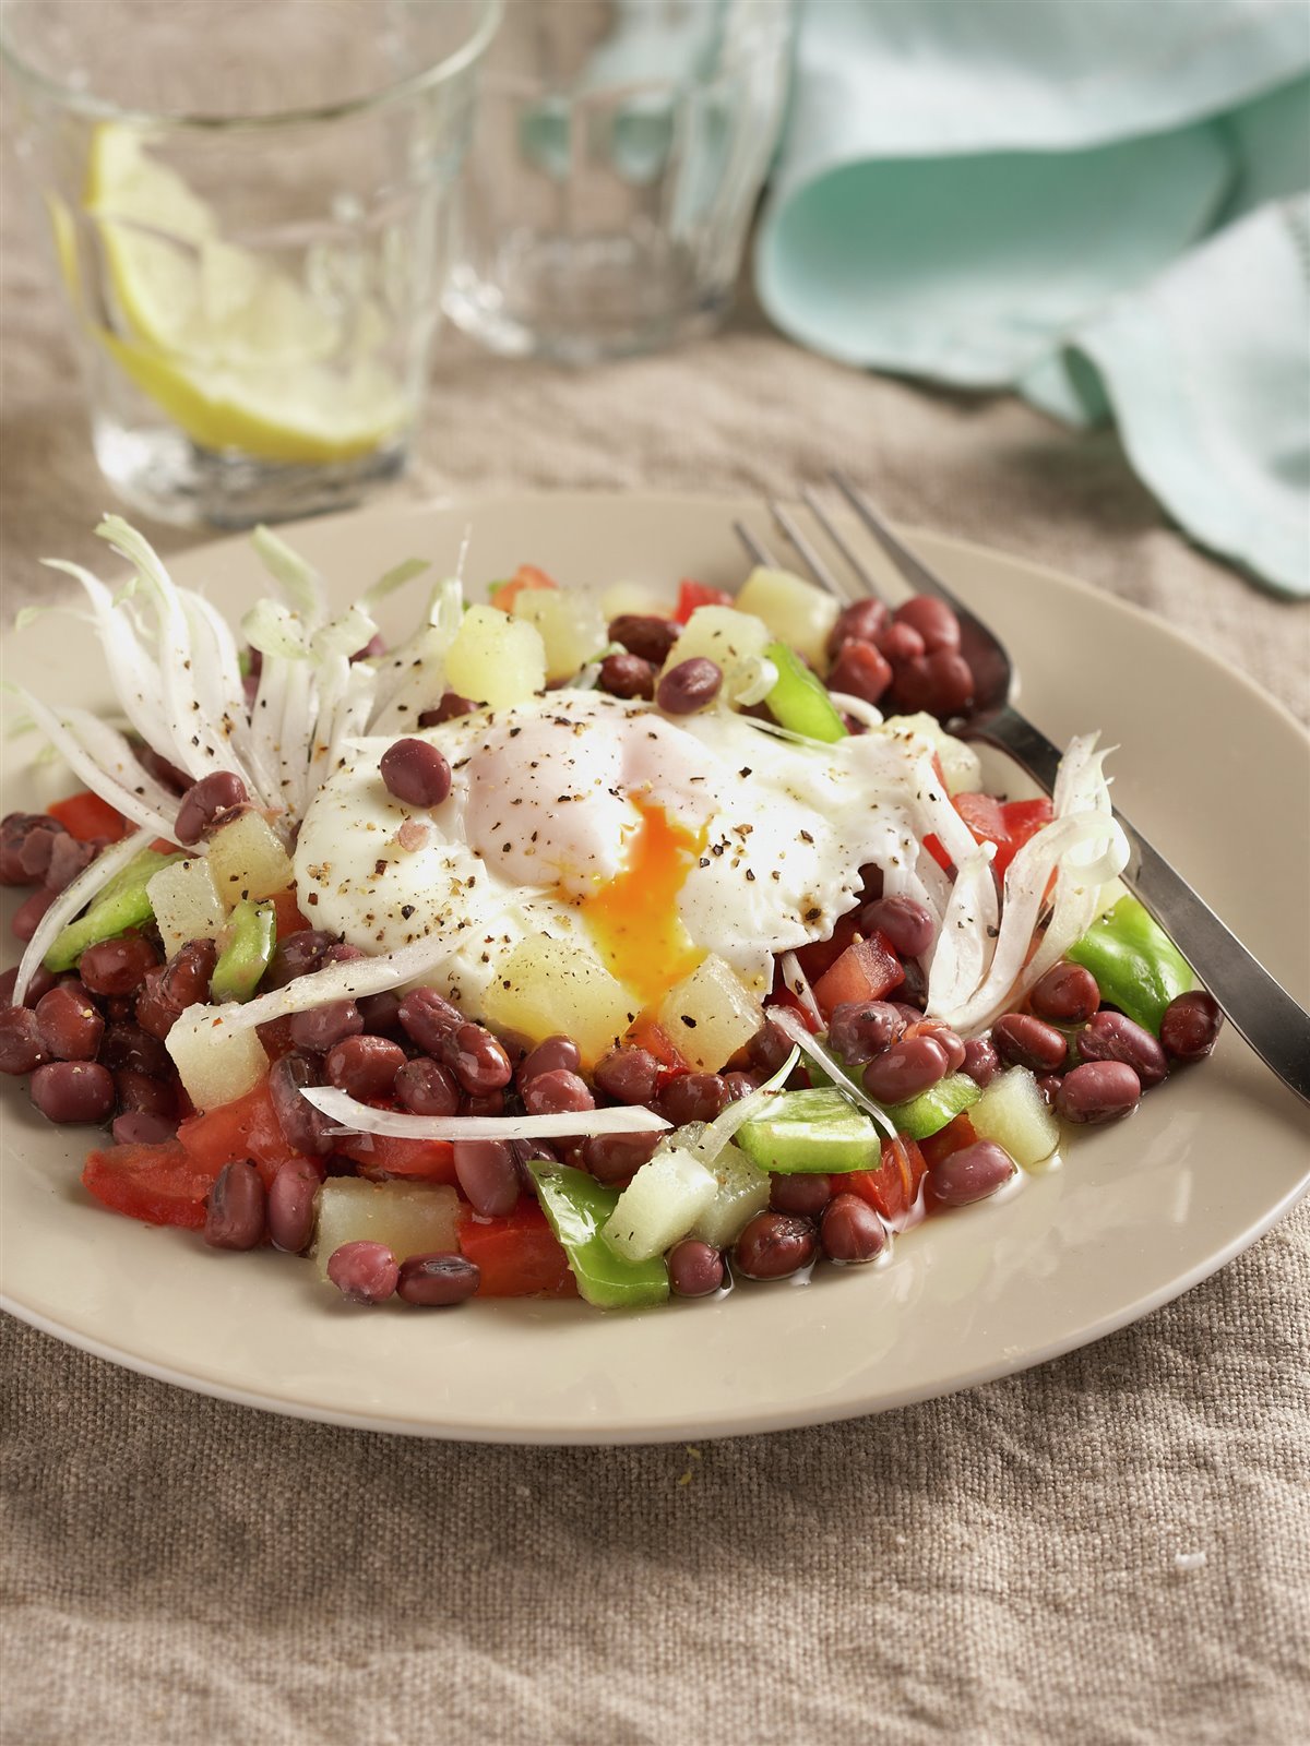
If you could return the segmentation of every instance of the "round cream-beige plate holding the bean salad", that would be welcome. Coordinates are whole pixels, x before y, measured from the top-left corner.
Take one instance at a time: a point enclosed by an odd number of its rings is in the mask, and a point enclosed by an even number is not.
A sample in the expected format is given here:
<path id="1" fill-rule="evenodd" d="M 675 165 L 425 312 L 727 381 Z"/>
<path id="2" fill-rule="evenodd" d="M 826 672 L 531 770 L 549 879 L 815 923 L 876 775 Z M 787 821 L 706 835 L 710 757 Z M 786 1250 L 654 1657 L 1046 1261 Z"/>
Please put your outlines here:
<path id="1" fill-rule="evenodd" d="M 582 583 L 735 585 L 744 501 L 517 496 L 311 522 L 292 541 L 342 599 L 414 553 L 470 571 L 541 564 Z M 1310 997 L 1310 747 L 1247 681 L 1172 630 L 1031 564 L 936 536 L 920 550 L 992 620 L 1024 698 L 1064 740 L 1100 726 L 1116 796 L 1301 1000 Z M 178 580 L 238 615 L 259 592 L 243 541 Z M 51 697 L 105 697 L 89 639 L 42 620 L 7 660 Z M 21 746 L 23 742 L 17 742 Z M 31 803 L 12 766 L 5 810 Z M 84 1131 L 2 1093 L 7 1306 L 75 1346 L 203 1393 L 304 1418 L 498 1442 L 641 1442 L 847 1418 L 1020 1371 L 1203 1280 L 1307 1187 L 1303 1110 L 1231 1032 L 1125 1124 L 1001 1205 L 934 1217 L 877 1271 L 739 1287 L 716 1303 L 599 1315 L 487 1303 L 360 1311 L 285 1255 L 222 1255 L 93 1205 Z"/>

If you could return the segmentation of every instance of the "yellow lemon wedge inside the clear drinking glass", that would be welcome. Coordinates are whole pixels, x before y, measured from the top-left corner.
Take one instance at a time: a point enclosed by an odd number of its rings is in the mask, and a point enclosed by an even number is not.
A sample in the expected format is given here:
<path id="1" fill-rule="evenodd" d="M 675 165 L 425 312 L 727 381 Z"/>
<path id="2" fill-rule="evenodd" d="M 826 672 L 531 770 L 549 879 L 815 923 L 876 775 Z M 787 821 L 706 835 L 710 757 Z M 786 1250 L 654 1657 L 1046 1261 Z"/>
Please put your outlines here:
<path id="1" fill-rule="evenodd" d="M 94 131 L 84 210 L 119 314 L 119 330 L 96 327 L 96 340 L 199 447 L 330 464 L 374 452 L 407 421 L 398 382 L 369 358 L 379 311 L 353 311 L 346 351 L 342 323 L 225 243 L 213 208 L 150 157 L 140 131 Z"/>

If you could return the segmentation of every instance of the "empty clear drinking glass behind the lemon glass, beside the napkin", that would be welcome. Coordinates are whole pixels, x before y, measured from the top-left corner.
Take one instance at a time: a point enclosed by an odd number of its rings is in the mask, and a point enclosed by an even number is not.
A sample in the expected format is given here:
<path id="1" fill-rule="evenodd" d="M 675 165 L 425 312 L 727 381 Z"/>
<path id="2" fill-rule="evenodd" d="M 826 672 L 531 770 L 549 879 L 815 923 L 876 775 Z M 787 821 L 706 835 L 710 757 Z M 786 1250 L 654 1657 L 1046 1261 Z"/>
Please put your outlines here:
<path id="1" fill-rule="evenodd" d="M 451 318 L 566 363 L 713 328 L 786 100 L 793 0 L 510 3 L 459 203 Z"/>

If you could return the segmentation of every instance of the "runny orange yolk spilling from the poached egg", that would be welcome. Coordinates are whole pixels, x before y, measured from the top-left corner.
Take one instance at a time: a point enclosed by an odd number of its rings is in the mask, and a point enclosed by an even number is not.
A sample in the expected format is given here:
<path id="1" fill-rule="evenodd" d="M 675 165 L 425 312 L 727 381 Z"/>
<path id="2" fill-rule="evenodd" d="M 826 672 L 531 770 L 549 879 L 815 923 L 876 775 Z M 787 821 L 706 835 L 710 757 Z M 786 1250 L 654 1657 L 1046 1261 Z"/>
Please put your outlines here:
<path id="1" fill-rule="evenodd" d="M 678 892 L 706 833 L 688 831 L 662 807 L 631 798 L 641 822 L 627 838 L 624 868 L 582 899 L 582 913 L 606 967 L 645 1011 L 706 957 L 678 915 Z"/>

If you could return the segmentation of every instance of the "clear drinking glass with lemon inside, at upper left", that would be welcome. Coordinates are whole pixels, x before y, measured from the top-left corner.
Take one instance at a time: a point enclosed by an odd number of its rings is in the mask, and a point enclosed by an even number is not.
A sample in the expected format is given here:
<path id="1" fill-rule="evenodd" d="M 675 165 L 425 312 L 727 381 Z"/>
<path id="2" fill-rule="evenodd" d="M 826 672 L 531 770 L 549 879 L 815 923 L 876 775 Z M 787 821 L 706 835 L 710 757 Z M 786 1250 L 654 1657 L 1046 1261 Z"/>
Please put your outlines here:
<path id="1" fill-rule="evenodd" d="M 500 0 L 7 0 L 101 471 L 162 520 L 407 459 Z"/>

